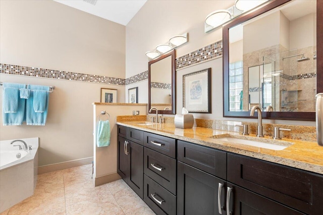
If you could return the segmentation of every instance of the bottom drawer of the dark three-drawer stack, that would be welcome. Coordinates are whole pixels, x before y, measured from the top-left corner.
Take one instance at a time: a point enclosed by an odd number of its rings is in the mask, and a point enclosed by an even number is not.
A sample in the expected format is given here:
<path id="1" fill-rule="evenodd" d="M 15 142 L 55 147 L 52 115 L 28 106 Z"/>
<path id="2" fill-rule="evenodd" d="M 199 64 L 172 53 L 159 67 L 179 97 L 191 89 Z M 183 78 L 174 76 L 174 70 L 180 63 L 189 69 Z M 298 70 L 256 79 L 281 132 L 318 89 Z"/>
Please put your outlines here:
<path id="1" fill-rule="evenodd" d="M 158 215 L 176 214 L 176 196 L 146 175 L 143 200 Z"/>

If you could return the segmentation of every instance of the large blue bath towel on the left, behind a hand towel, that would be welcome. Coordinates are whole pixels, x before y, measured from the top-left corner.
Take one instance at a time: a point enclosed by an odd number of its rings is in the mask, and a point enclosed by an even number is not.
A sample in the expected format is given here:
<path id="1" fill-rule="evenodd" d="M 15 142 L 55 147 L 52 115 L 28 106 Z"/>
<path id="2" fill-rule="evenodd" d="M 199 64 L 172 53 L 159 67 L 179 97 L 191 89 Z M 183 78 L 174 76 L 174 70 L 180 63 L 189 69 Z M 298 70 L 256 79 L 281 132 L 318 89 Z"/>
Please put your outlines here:
<path id="1" fill-rule="evenodd" d="M 4 91 L 6 88 L 26 88 L 25 84 L 15 84 L 15 83 L 4 83 Z M 4 94 L 3 94 L 4 96 Z M 5 96 L 4 96 L 5 97 Z M 25 99 L 20 99 L 17 93 L 18 98 L 18 109 L 16 113 L 5 113 L 5 98 L 3 98 L 3 125 L 22 125 L 25 117 Z"/>

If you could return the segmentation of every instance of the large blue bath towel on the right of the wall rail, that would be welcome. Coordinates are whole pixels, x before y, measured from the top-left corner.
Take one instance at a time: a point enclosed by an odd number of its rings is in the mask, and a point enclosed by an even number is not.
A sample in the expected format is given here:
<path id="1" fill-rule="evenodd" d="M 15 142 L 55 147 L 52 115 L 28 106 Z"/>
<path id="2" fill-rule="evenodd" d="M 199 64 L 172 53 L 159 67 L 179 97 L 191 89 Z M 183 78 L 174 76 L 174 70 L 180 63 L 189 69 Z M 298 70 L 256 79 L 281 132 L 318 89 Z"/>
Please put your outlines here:
<path id="1" fill-rule="evenodd" d="M 29 99 L 26 102 L 26 123 L 27 125 L 45 125 L 48 113 L 49 93 L 46 92 L 45 110 L 42 113 L 34 111 L 34 91 L 44 90 L 49 91 L 48 86 L 28 85 L 30 92 Z"/>

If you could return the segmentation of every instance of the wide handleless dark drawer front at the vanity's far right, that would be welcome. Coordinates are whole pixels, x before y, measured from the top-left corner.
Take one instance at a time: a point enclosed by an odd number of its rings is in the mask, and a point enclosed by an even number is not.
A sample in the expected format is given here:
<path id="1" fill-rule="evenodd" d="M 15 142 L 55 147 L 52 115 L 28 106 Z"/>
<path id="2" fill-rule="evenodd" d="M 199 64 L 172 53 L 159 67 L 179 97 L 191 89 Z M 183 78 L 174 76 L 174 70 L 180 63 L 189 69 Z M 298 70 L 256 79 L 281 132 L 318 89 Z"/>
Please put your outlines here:
<path id="1" fill-rule="evenodd" d="M 322 214 L 322 175 L 228 154 L 228 181 L 302 212 Z"/>

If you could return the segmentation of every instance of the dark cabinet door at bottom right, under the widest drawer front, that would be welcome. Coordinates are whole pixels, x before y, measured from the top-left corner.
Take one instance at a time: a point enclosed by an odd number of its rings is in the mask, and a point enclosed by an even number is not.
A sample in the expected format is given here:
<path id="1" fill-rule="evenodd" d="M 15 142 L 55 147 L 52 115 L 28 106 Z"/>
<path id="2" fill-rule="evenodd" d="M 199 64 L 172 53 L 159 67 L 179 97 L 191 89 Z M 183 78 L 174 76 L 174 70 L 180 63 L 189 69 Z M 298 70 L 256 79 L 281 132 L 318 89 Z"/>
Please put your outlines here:
<path id="1" fill-rule="evenodd" d="M 301 215 L 295 209 L 228 183 L 229 214 L 232 215 Z M 224 214 L 224 213 L 223 213 Z M 315 213 L 319 214 L 319 213 Z M 320 213 L 321 214 L 321 213 Z M 314 213 L 313 213 L 314 215 Z"/>

